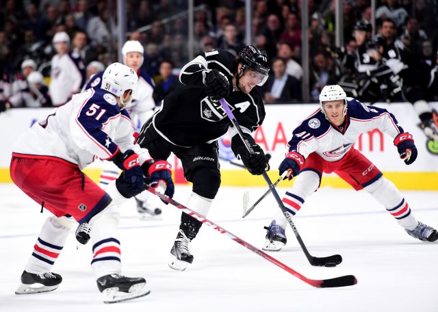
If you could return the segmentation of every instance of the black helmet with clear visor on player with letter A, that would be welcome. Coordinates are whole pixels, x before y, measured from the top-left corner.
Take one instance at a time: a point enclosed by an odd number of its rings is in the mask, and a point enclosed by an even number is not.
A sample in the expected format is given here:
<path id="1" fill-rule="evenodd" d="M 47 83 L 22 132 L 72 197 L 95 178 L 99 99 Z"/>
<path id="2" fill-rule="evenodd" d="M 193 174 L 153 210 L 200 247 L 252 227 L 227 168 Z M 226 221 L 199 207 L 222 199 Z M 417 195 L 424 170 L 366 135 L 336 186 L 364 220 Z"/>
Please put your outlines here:
<path id="1" fill-rule="evenodd" d="M 264 50 L 257 49 L 253 45 L 244 47 L 236 57 L 237 63 L 241 63 L 244 67 L 242 71 L 250 68 L 260 74 L 259 83 L 257 86 L 263 86 L 263 83 L 268 79 L 270 70 L 268 62 L 268 54 Z"/>

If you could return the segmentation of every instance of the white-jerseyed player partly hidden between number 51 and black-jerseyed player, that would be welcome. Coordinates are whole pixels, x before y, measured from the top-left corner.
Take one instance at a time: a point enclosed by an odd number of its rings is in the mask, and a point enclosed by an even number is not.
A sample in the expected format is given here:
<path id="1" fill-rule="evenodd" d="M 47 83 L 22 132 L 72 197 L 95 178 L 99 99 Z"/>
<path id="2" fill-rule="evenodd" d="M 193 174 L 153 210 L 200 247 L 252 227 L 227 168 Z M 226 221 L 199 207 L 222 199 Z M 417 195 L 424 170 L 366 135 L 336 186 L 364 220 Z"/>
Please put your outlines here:
<path id="1" fill-rule="evenodd" d="M 123 44 L 122 55 L 125 65 L 132 68 L 138 75 L 138 88 L 136 94 L 133 94 L 131 103 L 126 107 L 129 116 L 133 122 L 134 138 L 138 137 L 140 127 L 146 120 L 152 116 L 155 109 L 155 101 L 153 100 L 153 88 L 155 84 L 151 77 L 140 70 L 143 64 L 144 48 L 137 40 L 128 40 Z M 88 81 L 84 87 L 99 88 L 101 86 L 102 73 L 98 73 Z M 100 183 L 103 187 L 117 179 L 120 170 L 114 166 L 110 161 L 105 161 L 103 165 L 103 172 L 101 174 Z M 159 219 L 161 218 L 162 210 L 160 207 L 164 205 L 159 198 L 153 196 L 151 193 L 145 191 L 136 196 L 137 211 L 140 213 L 140 218 Z"/>

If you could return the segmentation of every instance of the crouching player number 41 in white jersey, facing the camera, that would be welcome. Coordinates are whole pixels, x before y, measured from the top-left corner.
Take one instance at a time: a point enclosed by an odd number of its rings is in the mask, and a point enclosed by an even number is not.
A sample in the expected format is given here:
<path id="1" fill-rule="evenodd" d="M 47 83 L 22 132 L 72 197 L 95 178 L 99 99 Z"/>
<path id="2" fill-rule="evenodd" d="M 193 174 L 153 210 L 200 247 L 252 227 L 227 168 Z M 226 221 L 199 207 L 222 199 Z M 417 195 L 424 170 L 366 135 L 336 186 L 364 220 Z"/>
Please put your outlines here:
<path id="1" fill-rule="evenodd" d="M 355 190 L 365 190 L 373 196 L 409 235 L 434 242 L 438 239 L 437 231 L 418 222 L 396 186 L 352 147 L 361 133 L 372 129 L 394 138 L 394 145 L 405 164 L 415 161 L 417 148 L 413 137 L 398 125 L 393 114 L 347 98 L 338 85 L 322 89 L 320 109 L 294 129 L 292 140 L 288 142 L 289 153 L 279 166 L 280 174 L 291 170 L 289 180 L 296 176 L 294 186 L 282 200 L 289 216 L 295 216 L 307 197 L 318 189 L 324 172 L 334 172 Z M 281 250 L 287 242 L 287 220 L 280 212 L 266 228 L 263 250 Z"/>

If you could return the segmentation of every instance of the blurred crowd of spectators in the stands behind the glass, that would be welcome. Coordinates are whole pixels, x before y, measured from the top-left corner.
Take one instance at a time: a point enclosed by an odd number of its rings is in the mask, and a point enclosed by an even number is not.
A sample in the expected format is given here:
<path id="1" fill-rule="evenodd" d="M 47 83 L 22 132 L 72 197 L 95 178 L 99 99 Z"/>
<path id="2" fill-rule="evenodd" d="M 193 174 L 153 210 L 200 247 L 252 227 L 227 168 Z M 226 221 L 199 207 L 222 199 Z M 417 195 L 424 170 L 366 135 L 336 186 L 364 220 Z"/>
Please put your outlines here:
<path id="1" fill-rule="evenodd" d="M 195 55 L 215 48 L 237 54 L 245 45 L 245 1 L 194 2 L 198 8 L 194 14 Z M 302 2 L 309 7 L 310 64 L 302 64 L 300 59 Z M 92 73 L 117 60 L 117 1 L 110 1 L 110 8 L 107 0 L 1 3 L 0 101 L 3 103 L 12 107 L 53 105 L 47 78 L 53 75 L 51 62 L 57 54 L 53 38 L 62 31 L 68 34 L 70 52 L 83 62 L 84 75 L 88 71 L 82 84 Z M 188 1 L 128 0 L 125 3 L 129 31 L 126 39 L 138 40 L 144 46 L 142 69 L 156 83 L 154 99 L 158 103 L 164 96 L 163 88 L 174 83 L 174 74 L 189 61 L 188 17 L 179 14 L 188 9 Z M 374 33 L 379 33 L 382 22 L 391 18 L 396 38 L 421 62 L 433 68 L 437 66 L 437 10 L 435 0 L 377 1 L 378 28 Z M 309 96 L 317 100 L 325 84 L 337 83 L 345 74 L 342 58 L 357 49 L 352 29 L 361 19 L 370 21 L 371 13 L 370 0 L 343 1 L 344 44 L 335 47 L 334 0 L 253 0 L 253 44 L 266 50 L 272 64 L 272 77 L 261 90 L 264 101 L 302 101 L 302 75 L 307 68 Z M 41 75 L 29 77 L 32 71 Z M 23 94 L 16 99 L 17 92 L 23 91 L 31 94 L 34 101 L 24 101 Z"/>

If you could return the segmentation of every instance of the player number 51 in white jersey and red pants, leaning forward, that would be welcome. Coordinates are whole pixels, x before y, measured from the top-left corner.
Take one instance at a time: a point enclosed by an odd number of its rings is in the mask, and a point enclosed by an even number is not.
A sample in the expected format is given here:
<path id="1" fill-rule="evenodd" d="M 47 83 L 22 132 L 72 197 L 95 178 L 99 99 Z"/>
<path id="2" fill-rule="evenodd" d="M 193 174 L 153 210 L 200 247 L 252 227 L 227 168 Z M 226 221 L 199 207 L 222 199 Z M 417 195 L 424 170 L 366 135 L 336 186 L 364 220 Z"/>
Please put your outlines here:
<path id="1" fill-rule="evenodd" d="M 124 108 L 137 81 L 131 68 L 114 63 L 103 73 L 102 88 L 75 94 L 18 138 L 10 165 L 12 181 L 54 216 L 42 226 L 16 294 L 58 287 L 62 278 L 51 268 L 76 222 L 78 242 L 92 242 L 91 265 L 104 302 L 149 294 L 144 278 L 121 275 L 118 207 L 144 190 L 143 172 L 152 187 L 164 181 L 168 196 L 174 186 L 170 165 L 154 161 L 146 149 L 133 144 L 131 119 Z M 98 158 L 123 170 L 105 190 L 81 171 Z"/>

